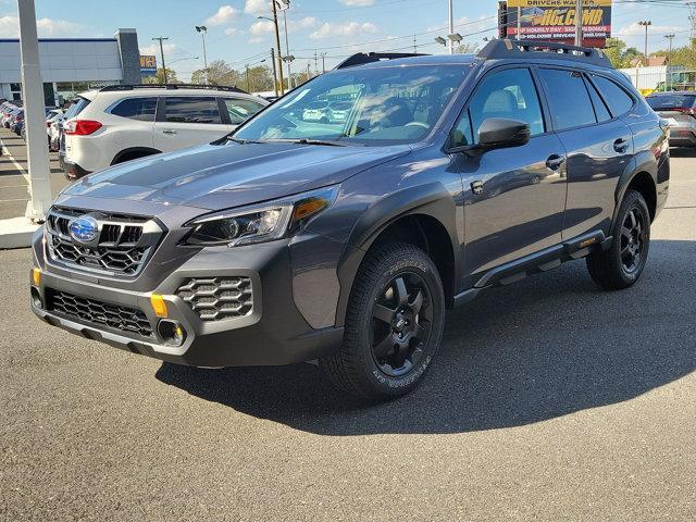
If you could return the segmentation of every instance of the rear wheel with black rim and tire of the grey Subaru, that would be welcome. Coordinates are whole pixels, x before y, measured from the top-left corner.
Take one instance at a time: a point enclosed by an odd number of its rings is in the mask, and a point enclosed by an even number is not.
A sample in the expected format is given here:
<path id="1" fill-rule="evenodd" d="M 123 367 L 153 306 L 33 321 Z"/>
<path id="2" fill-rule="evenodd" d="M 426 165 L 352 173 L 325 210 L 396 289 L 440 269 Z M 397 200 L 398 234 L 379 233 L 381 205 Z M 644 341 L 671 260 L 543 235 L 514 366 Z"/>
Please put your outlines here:
<path id="1" fill-rule="evenodd" d="M 604 289 L 621 290 L 638 281 L 650 249 L 650 212 L 637 190 L 626 191 L 611 235 L 608 250 L 587 257 L 587 270 Z"/>

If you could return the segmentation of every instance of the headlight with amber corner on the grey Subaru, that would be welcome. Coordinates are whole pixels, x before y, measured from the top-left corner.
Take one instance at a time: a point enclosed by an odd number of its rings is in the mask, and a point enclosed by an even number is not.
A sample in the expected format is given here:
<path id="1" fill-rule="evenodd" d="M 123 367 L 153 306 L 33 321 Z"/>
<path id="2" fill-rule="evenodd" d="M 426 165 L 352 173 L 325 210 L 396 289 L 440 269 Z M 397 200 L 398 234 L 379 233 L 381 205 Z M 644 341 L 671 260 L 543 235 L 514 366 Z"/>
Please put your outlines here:
<path id="1" fill-rule="evenodd" d="M 337 187 L 322 188 L 253 208 L 215 212 L 184 226 L 192 227 L 186 245 L 250 245 L 281 239 L 330 207 Z"/>

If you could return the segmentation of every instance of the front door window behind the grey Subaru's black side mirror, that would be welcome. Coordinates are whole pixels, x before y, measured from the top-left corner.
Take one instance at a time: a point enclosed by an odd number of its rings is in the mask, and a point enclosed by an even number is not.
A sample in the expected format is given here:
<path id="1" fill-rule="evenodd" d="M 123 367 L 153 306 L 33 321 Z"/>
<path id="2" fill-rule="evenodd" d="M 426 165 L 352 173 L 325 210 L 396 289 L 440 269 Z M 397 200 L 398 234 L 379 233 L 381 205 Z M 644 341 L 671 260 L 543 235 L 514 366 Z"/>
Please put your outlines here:
<path id="1" fill-rule="evenodd" d="M 481 124 L 490 117 L 524 122 L 532 136 L 545 132 L 539 98 L 527 69 L 492 73 L 478 85 L 468 107 L 455 127 L 453 146 L 477 144 Z"/>

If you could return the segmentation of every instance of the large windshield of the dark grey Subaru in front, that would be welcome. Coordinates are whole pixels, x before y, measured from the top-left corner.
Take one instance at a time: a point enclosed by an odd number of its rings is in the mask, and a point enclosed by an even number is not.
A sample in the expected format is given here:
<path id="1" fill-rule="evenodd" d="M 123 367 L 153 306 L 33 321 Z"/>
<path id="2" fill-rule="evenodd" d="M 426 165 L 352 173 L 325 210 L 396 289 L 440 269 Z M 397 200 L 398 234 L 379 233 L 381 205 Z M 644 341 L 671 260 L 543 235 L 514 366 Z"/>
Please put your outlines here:
<path id="1" fill-rule="evenodd" d="M 234 137 L 343 145 L 413 142 L 430 133 L 469 71 L 462 65 L 335 71 L 296 88 Z M 336 117 L 330 108 L 344 114 Z"/>

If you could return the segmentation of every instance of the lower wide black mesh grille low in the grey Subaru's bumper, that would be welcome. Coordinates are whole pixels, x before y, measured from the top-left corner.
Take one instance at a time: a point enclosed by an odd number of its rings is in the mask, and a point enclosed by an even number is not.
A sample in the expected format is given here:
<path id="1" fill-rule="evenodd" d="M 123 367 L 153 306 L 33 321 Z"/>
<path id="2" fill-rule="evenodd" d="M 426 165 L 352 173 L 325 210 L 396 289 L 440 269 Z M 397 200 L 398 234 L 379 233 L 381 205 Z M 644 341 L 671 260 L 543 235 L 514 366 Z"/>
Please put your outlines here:
<path id="1" fill-rule="evenodd" d="M 79 297 L 67 291 L 47 289 L 48 310 L 95 325 L 132 332 L 153 338 L 152 326 L 141 310 Z"/>

